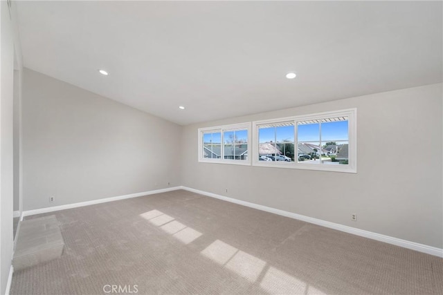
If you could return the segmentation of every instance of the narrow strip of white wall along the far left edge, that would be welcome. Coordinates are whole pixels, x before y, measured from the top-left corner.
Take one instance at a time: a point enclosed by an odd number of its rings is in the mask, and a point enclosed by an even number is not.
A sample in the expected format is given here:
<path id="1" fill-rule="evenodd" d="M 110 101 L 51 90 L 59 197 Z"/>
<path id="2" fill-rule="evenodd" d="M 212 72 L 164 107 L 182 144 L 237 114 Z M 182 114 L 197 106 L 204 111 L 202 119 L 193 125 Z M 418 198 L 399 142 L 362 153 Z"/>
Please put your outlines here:
<path id="1" fill-rule="evenodd" d="M 14 64 L 18 79 L 21 73 L 21 53 L 17 29 L 15 2 L 11 12 L 6 1 L 0 1 L 0 294 L 6 292 L 13 251 L 13 104 Z M 19 99 L 19 97 L 17 97 Z"/>

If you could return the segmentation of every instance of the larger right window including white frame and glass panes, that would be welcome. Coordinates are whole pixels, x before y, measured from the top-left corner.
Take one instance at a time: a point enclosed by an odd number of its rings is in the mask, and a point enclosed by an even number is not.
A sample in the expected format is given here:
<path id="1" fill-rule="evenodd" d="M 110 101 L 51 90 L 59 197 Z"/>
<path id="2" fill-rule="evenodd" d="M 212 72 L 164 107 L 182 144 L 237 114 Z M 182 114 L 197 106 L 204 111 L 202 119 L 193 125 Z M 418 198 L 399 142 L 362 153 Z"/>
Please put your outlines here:
<path id="1" fill-rule="evenodd" d="M 255 166 L 356 172 L 356 109 L 253 122 Z"/>

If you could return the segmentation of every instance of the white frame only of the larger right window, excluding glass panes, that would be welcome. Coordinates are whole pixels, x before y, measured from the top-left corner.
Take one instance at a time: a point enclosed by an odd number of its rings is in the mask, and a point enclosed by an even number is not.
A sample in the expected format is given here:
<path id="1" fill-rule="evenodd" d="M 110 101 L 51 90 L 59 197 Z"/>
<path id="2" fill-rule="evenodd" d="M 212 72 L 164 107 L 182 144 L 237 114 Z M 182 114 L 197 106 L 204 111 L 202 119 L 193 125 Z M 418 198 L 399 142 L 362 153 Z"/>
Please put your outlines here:
<path id="1" fill-rule="evenodd" d="M 322 113 L 314 113 L 307 115 L 297 115 L 293 117 L 281 117 L 278 119 L 271 120 L 260 120 L 252 122 L 252 165 L 253 166 L 262 166 L 262 167 L 273 167 L 273 168 L 289 168 L 289 169 L 305 169 L 305 170 L 317 170 L 317 171 L 334 171 L 334 172 L 345 172 L 345 173 L 356 173 L 356 163 L 357 163 L 357 149 L 356 149 L 356 108 L 348 108 L 339 111 L 327 111 Z M 327 117 L 347 117 L 347 135 L 348 135 L 348 164 L 318 164 L 314 163 L 303 163 L 298 162 L 298 128 L 297 124 L 300 121 L 309 121 L 309 120 L 320 120 L 325 119 Z M 283 161 L 260 161 L 259 157 L 259 127 L 263 125 L 270 124 L 279 124 L 283 122 L 293 122 L 294 127 L 294 161 L 293 162 L 283 162 Z"/>

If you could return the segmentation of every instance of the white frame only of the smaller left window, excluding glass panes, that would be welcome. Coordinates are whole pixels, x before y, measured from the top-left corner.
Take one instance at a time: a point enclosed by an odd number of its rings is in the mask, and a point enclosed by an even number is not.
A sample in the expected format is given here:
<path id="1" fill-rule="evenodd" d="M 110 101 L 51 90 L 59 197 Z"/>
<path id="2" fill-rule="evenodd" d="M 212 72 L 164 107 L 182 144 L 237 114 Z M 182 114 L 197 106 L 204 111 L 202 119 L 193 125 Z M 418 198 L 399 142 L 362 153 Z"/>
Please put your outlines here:
<path id="1" fill-rule="evenodd" d="M 224 158 L 224 133 L 226 131 L 233 131 L 235 129 L 245 129 L 248 131 L 248 149 L 246 153 L 248 153 L 247 160 L 235 160 L 235 159 L 225 159 Z M 212 131 L 214 132 L 220 132 L 221 137 L 221 155 L 220 158 L 204 158 L 203 156 L 203 134 L 205 132 Z M 251 122 L 246 123 L 239 123 L 239 124 L 230 124 L 230 125 L 222 125 L 222 126 L 213 126 L 213 127 L 205 127 L 205 128 L 199 128 L 198 129 L 198 140 L 199 140 L 199 149 L 198 149 L 198 159 L 199 162 L 204 163 L 215 163 L 215 164 L 233 164 L 233 165 L 248 165 L 251 166 L 251 142 L 252 142 L 252 134 L 251 134 Z"/>

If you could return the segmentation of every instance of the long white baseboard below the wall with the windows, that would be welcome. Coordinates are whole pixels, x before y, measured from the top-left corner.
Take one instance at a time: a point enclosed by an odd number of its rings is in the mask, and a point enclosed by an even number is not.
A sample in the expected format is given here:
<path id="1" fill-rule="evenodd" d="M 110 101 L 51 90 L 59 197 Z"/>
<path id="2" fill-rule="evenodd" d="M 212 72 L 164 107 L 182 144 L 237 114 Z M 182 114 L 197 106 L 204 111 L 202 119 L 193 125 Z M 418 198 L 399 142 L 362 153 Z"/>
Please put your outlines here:
<path id="1" fill-rule="evenodd" d="M 255 203 L 251 203 L 251 202 L 246 202 L 246 201 L 242 201 L 242 200 L 237 200 L 234 198 L 229 198 L 226 196 L 221 196 L 221 195 L 217 195 L 215 193 L 208 193 L 207 191 L 200 191 L 199 189 L 192 189 L 190 187 L 181 187 L 181 189 L 184 189 L 186 191 L 191 191 L 193 193 L 199 193 L 201 195 L 204 196 L 208 196 L 211 198 L 217 198 L 219 200 L 225 200 L 228 202 L 233 202 L 235 204 L 240 204 L 246 207 L 251 207 L 254 209 L 258 209 L 258 210 L 262 210 L 262 211 L 266 211 L 266 212 L 270 212 L 270 213 L 275 213 L 281 216 L 286 216 L 289 218 L 293 218 L 293 219 L 297 219 L 297 220 L 302 220 L 305 222 L 309 222 L 309 223 L 313 223 L 314 225 L 320 225 L 322 227 L 328 227 L 329 229 L 336 229 L 338 231 L 344 231 L 348 234 L 354 234 L 356 236 L 363 236 L 365 238 L 370 238 L 372 240 L 378 240 L 380 242 L 387 242 L 388 244 L 392 244 L 392 245 L 396 245 L 399 247 L 404 247 L 407 249 L 412 249 L 415 251 L 419 251 L 419 252 L 423 252 L 426 254 L 431 254 L 433 256 L 438 256 L 438 257 L 442 257 L 443 258 L 443 249 L 437 248 L 437 247 L 432 247 L 432 246 L 428 246 L 428 245 L 423 245 L 423 244 L 419 244 L 418 242 L 410 242 L 408 240 L 401 240 L 400 238 L 394 238 L 391 236 L 385 236 L 382 234 L 377 234 L 377 233 L 373 233 L 372 231 L 365 231 L 363 229 L 356 229 L 355 227 L 348 227 L 347 225 L 340 225 L 338 223 L 334 223 L 334 222 L 329 222 L 329 221 L 325 221 L 325 220 L 320 220 L 317 218 L 311 218 L 308 216 L 303 216 L 297 213 L 292 213 L 289 211 L 284 211 L 284 210 L 280 210 L 280 209 L 275 209 L 275 208 L 271 208 L 271 207 L 266 207 L 260 204 L 255 204 Z"/>

